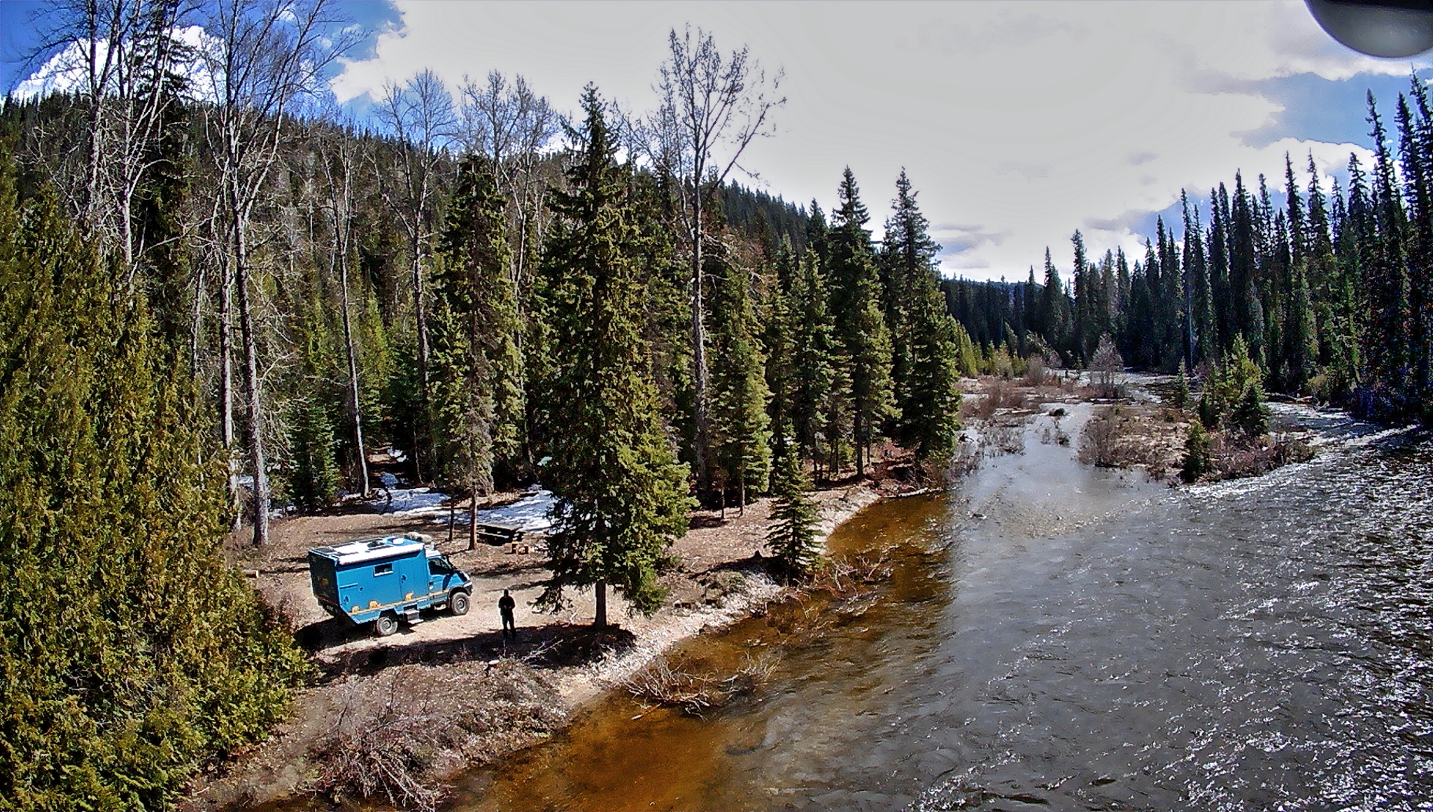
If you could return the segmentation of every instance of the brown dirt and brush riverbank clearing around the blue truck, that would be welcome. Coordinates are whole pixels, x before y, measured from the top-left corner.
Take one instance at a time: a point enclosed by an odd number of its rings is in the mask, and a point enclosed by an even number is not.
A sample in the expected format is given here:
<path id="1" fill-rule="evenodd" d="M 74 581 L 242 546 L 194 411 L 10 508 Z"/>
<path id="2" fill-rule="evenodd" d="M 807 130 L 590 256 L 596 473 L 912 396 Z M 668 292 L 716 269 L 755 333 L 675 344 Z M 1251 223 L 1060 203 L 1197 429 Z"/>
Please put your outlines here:
<path id="1" fill-rule="evenodd" d="M 856 484 L 815 497 L 824 540 L 881 494 Z M 759 500 L 739 516 L 694 514 L 691 531 L 671 550 L 676 566 L 661 577 L 666 607 L 653 617 L 629 616 L 620 596 L 609 594 L 615 623 L 605 630 L 590 626 L 590 591 L 573 594 L 572 610 L 560 616 L 535 613 L 530 601 L 546 579 L 540 554 L 486 544 L 469 550 L 461 528 L 447 538 L 441 516 L 295 517 L 275 524 L 262 553 L 234 540 L 231 559 L 251 571 L 311 652 L 315 679 L 289 722 L 268 742 L 196 776 L 179 809 L 292 809 L 308 793 L 335 788 L 365 789 L 380 802 L 393 795 L 407 806 L 431 803 L 427 786 L 552 735 L 573 710 L 678 642 L 775 597 L 781 587 L 767 574 L 764 547 L 770 507 Z M 377 639 L 322 613 L 310 593 L 310 547 L 411 531 L 434 537 L 470 573 L 469 614 L 426 616 Z M 517 599 L 514 643 L 502 639 L 496 612 L 504 589 Z"/>

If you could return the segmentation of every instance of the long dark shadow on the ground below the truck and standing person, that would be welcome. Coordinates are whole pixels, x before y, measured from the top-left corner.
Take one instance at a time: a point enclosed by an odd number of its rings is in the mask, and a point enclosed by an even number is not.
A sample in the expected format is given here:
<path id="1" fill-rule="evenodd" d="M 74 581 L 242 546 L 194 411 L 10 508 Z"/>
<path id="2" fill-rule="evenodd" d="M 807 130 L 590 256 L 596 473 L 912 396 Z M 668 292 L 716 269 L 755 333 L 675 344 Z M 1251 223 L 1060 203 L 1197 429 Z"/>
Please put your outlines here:
<path id="1" fill-rule="evenodd" d="M 371 634 L 370 626 L 328 619 L 311 623 L 295 633 L 308 652 L 317 654 L 342 643 Z M 550 623 L 517 630 L 516 640 L 504 640 L 500 632 L 486 632 L 460 640 L 423 640 L 404 643 L 406 632 L 394 634 L 388 644 L 338 652 L 331 657 L 315 657 L 318 682 L 327 683 L 348 675 L 373 675 L 384 669 L 423 663 L 441 666 L 471 660 L 494 662 L 516 657 L 536 669 L 557 669 L 595 663 L 608 654 L 632 647 L 636 636 L 620 626 L 598 629 L 590 624 Z"/>

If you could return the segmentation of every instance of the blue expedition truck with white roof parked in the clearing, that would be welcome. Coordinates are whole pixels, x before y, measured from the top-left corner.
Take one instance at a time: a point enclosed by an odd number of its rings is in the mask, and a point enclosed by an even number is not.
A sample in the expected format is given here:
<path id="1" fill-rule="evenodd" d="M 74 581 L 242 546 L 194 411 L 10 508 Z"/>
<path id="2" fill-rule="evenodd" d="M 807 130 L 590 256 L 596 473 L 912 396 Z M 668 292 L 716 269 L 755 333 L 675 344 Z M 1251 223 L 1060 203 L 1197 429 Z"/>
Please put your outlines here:
<path id="1" fill-rule="evenodd" d="M 467 614 L 473 580 L 421 536 L 384 536 L 308 551 L 314 597 L 334 617 L 373 623 L 380 637 L 398 619 L 421 623 L 418 612 L 447 607 Z"/>

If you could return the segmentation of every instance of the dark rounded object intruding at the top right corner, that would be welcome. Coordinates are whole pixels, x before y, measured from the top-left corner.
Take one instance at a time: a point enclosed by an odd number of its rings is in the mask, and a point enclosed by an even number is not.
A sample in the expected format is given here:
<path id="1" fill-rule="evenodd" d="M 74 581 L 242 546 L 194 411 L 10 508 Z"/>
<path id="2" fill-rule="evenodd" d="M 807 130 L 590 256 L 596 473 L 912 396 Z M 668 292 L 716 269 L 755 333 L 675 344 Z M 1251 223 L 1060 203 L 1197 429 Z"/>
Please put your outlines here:
<path id="1" fill-rule="evenodd" d="M 1358 53 L 1403 59 L 1433 49 L 1430 0 L 1304 0 L 1333 39 Z"/>

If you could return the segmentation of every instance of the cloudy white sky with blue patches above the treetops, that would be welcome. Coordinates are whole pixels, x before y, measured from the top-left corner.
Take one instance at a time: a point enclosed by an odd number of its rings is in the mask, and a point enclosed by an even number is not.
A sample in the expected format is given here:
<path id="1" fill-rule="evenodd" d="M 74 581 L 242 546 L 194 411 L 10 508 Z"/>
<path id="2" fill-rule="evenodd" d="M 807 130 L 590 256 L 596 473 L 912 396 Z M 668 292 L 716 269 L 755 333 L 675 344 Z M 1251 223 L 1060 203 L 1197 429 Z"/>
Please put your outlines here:
<path id="1" fill-rule="evenodd" d="M 17 59 L 37 7 L 0 1 L 7 87 L 37 69 Z M 423 69 L 453 89 L 490 70 L 522 74 L 559 110 L 592 82 L 641 113 L 658 105 L 672 29 L 708 32 L 724 52 L 747 46 L 768 77 L 781 73 L 787 103 L 775 135 L 742 156 L 754 175 L 735 180 L 830 212 L 850 166 L 880 238 L 904 168 L 941 271 L 976 279 L 1039 275 L 1046 246 L 1068 276 L 1076 229 L 1092 256 L 1142 256 L 1156 216 L 1178 231 L 1181 189 L 1207 202 L 1235 170 L 1281 188 L 1285 153 L 1301 186 L 1313 155 L 1327 190 L 1351 152 L 1369 162 L 1364 93 L 1391 129 L 1412 72 L 1433 74 L 1426 56 L 1344 49 L 1301 0 L 342 7 L 365 39 L 331 90 L 360 115 L 384 83 Z"/>

